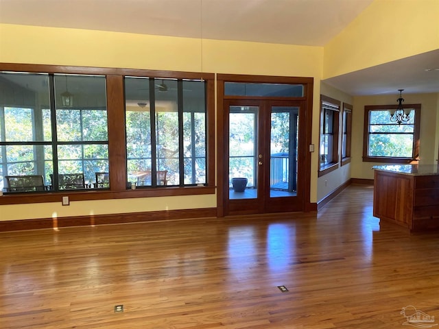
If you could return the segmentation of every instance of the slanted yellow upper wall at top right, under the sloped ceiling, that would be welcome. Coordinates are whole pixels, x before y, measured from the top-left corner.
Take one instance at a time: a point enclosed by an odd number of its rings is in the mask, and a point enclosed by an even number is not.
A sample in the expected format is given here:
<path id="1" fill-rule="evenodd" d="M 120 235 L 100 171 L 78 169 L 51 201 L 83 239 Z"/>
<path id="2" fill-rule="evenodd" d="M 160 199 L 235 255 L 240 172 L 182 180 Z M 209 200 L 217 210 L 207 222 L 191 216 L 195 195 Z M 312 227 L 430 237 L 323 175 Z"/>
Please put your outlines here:
<path id="1" fill-rule="evenodd" d="M 323 78 L 439 49 L 438 0 L 375 0 L 324 47 Z"/>

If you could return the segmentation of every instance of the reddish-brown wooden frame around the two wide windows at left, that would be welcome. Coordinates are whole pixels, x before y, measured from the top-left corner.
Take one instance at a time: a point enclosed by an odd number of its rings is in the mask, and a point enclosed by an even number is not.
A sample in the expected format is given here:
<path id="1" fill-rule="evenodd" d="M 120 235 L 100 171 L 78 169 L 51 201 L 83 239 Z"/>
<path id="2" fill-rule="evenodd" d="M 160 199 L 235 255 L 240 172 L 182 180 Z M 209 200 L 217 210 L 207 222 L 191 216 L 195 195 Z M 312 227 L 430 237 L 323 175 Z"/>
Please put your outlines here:
<path id="1" fill-rule="evenodd" d="M 0 198 L 0 205 L 60 202 L 62 196 L 69 196 L 70 201 L 82 201 L 215 193 L 215 75 L 213 73 L 15 63 L 0 63 L 0 71 L 105 75 L 108 111 L 108 161 L 111 182 L 110 189 L 105 191 L 54 191 L 3 195 Z M 172 186 L 134 190 L 126 188 L 125 97 L 123 91 L 123 78 L 125 76 L 203 79 L 206 81 L 207 179 L 204 186 Z"/>

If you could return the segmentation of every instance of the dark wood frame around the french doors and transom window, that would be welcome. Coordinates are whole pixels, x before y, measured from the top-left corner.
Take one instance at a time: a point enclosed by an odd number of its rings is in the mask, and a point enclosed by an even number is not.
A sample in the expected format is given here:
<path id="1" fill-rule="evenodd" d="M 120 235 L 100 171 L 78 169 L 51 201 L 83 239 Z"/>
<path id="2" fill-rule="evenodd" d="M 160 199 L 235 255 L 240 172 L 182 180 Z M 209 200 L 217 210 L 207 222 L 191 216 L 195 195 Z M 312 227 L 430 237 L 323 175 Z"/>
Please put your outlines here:
<path id="1" fill-rule="evenodd" d="M 305 122 L 306 134 L 305 145 L 311 144 L 312 136 L 312 108 L 313 108 L 313 78 L 312 77 L 281 77 L 281 76 L 265 76 L 265 75 L 217 75 L 217 217 L 224 217 L 227 214 L 225 208 L 226 193 L 228 193 L 228 158 L 225 156 L 226 143 L 224 141 L 224 83 L 225 82 L 252 82 L 252 83 L 272 83 L 272 84 L 302 84 L 304 86 L 304 97 L 242 97 L 242 96 L 228 96 L 227 99 L 285 99 L 285 100 L 300 100 L 304 102 L 305 106 Z M 311 204 L 311 154 L 308 147 L 302 147 L 302 154 L 298 154 L 298 161 L 302 162 L 303 175 L 305 176 L 305 184 L 303 188 L 303 203 L 302 211 L 307 212 L 316 210 L 315 205 Z"/>

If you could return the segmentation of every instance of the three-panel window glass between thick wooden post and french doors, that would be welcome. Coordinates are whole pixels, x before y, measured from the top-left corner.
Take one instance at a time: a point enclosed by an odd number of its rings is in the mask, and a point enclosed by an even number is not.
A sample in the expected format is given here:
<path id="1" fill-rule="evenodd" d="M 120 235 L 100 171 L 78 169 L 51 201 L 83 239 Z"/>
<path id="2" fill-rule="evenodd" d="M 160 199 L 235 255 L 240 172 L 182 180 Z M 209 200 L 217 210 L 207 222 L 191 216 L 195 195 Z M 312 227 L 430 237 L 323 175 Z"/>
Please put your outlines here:
<path id="1" fill-rule="evenodd" d="M 206 184 L 205 84 L 125 78 L 129 185 Z"/>

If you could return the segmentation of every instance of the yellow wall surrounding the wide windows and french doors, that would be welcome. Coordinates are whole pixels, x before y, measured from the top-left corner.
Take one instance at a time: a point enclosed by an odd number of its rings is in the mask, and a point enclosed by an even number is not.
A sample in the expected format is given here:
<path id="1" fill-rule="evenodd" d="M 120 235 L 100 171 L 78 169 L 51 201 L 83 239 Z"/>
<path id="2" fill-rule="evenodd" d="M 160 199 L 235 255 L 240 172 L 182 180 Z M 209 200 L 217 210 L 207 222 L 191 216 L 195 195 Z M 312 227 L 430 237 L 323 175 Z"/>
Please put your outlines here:
<path id="1" fill-rule="evenodd" d="M 202 60 L 201 60 L 202 53 Z M 0 24 L 0 62 L 314 77 L 313 143 L 318 144 L 323 48 L 147 36 Z M 313 154 L 311 202 L 318 155 Z M 172 208 L 168 208 L 172 207 Z M 216 207 L 216 195 L 0 206 L 0 221 Z"/>

